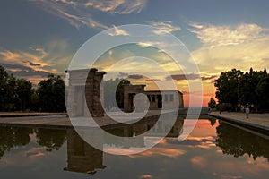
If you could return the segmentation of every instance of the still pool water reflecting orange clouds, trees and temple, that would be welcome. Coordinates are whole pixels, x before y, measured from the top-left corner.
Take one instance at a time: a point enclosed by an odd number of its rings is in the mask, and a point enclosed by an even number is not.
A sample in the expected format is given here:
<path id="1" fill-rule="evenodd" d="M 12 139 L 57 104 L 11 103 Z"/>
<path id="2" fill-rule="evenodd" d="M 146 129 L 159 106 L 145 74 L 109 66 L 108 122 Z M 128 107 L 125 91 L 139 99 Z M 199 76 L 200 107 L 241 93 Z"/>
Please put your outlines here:
<path id="1" fill-rule="evenodd" d="M 174 132 L 180 134 L 180 130 Z M 110 133 L 120 135 L 126 131 L 119 128 Z M 133 135 L 132 130 L 127 133 Z M 123 141 L 104 143 L 114 149 L 130 148 Z M 268 136 L 218 120 L 199 120 L 185 141 L 178 142 L 178 137 L 170 132 L 152 149 L 130 156 L 94 149 L 72 129 L 0 127 L 0 178 L 4 179 L 266 178 L 268 175 Z"/>

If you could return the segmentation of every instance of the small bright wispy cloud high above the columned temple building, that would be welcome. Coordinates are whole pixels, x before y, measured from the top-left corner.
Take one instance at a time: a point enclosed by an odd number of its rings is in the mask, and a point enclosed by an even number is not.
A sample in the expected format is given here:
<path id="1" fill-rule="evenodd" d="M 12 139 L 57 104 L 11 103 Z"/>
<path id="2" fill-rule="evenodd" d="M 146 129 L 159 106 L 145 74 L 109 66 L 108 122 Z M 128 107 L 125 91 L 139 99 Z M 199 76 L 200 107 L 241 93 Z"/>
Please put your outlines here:
<path id="1" fill-rule="evenodd" d="M 158 35 L 181 30 L 181 28 L 178 25 L 174 25 L 172 21 L 151 21 L 150 25 L 159 28 L 159 30 L 154 30 L 154 33 Z"/>

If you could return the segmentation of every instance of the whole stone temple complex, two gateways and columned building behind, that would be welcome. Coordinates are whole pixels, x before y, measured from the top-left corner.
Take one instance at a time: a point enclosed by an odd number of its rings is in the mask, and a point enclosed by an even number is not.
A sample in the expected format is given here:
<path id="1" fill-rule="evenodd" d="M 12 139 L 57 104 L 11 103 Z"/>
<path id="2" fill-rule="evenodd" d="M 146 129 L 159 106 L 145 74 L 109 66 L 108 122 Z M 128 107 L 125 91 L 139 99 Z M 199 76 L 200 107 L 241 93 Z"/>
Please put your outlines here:
<path id="1" fill-rule="evenodd" d="M 68 105 L 72 109 L 72 115 L 85 116 L 89 110 L 93 117 L 104 116 L 103 88 L 101 81 L 106 72 L 99 72 L 96 68 L 65 71 L 68 73 Z M 88 73 L 88 74 L 87 74 Z M 87 76 L 85 83 L 85 76 Z M 149 109 L 177 109 L 183 108 L 183 94 L 179 90 L 144 90 L 146 85 L 128 84 L 124 87 L 124 111 L 140 112 L 144 106 L 134 108 L 134 97 L 143 93 L 149 100 Z M 72 105 L 72 106 L 71 106 Z M 70 110 L 69 110 L 70 112 Z"/>

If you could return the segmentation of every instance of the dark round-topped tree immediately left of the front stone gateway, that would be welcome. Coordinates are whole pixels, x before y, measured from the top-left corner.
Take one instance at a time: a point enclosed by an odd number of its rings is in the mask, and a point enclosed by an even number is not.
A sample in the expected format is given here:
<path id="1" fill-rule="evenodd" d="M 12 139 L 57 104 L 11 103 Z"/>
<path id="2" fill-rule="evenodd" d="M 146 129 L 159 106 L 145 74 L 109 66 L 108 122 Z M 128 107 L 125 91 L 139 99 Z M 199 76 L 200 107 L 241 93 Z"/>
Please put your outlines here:
<path id="1" fill-rule="evenodd" d="M 47 80 L 39 82 L 37 93 L 42 111 L 65 111 L 65 81 L 60 76 L 48 75 Z"/>

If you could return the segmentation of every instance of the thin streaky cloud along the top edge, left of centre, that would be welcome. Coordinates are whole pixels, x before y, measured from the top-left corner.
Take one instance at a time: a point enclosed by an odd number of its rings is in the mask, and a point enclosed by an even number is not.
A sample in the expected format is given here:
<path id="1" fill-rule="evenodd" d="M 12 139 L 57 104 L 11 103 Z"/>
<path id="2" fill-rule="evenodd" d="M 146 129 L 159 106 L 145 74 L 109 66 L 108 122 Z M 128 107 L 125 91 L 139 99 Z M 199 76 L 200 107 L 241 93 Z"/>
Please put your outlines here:
<path id="1" fill-rule="evenodd" d="M 68 21 L 77 29 L 88 27 L 99 30 L 108 29 L 108 25 L 92 17 L 93 9 L 104 13 L 140 13 L 147 3 L 145 0 L 30 0 L 30 2 L 39 4 L 44 11 Z"/>

